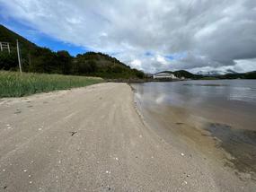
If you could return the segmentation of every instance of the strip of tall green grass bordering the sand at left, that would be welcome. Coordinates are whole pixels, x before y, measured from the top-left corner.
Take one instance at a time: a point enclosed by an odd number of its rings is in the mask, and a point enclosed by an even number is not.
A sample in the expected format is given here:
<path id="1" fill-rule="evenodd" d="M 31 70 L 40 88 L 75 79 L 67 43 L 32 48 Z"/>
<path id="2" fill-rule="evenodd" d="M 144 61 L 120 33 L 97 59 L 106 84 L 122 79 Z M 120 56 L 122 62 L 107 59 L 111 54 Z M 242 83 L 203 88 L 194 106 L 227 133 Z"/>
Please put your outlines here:
<path id="1" fill-rule="evenodd" d="M 0 98 L 65 90 L 103 82 L 102 78 L 62 74 L 29 74 L 0 71 Z"/>

